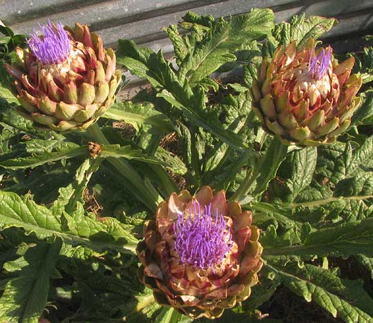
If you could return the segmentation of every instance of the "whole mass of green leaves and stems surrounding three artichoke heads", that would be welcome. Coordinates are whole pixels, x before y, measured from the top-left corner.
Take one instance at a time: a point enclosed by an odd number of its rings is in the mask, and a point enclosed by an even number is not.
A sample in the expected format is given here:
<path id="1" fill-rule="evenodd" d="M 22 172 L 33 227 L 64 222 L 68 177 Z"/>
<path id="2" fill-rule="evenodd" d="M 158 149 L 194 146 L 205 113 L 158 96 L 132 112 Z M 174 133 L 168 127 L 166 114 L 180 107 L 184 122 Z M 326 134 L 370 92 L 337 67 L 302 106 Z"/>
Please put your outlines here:
<path id="1" fill-rule="evenodd" d="M 1 322 L 192 322 L 135 278 L 135 248 L 162 200 L 203 185 L 253 212 L 264 248 L 260 284 L 217 322 L 279 323 L 260 311 L 280 285 L 345 322 L 373 322 L 372 90 L 327 146 L 285 146 L 251 110 L 262 57 L 335 23 L 301 14 L 275 24 L 269 9 L 188 12 L 165 28 L 175 63 L 120 39 L 117 62 L 151 89 L 117 98 L 79 133 L 44 133 L 17 114 L 3 67 L 22 44 L 0 27 Z M 372 48 L 351 55 L 369 85 Z M 354 258 L 364 284 L 336 257 Z"/>

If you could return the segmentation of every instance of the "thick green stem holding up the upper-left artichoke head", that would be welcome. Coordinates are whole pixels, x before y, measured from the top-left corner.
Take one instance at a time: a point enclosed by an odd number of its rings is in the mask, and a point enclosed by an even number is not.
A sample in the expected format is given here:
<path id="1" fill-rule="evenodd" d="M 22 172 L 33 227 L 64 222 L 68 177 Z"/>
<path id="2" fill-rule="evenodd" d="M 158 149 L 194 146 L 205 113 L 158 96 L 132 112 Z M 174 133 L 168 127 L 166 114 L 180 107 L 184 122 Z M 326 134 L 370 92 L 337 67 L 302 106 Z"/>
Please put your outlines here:
<path id="1" fill-rule="evenodd" d="M 99 144 L 110 144 L 97 124 L 93 124 L 87 130 L 93 140 Z M 115 157 L 107 157 L 106 160 L 119 172 L 119 175 L 124 177 L 127 183 L 126 186 L 131 189 L 133 194 L 151 211 L 155 211 L 157 205 L 162 202 L 162 197 L 154 186 L 151 183 L 144 184 L 144 179 L 137 173 L 135 168 L 128 164 L 128 161 Z"/>

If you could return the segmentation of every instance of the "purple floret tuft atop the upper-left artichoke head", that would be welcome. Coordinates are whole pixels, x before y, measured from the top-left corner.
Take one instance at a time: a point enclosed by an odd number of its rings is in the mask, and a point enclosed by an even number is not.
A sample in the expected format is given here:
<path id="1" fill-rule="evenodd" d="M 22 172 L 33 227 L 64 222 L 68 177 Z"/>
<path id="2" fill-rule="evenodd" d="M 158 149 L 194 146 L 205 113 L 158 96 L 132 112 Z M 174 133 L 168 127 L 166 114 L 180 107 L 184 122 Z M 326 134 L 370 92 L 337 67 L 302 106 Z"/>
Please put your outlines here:
<path id="1" fill-rule="evenodd" d="M 64 26 L 58 23 L 57 27 L 54 27 L 49 21 L 45 26 L 39 23 L 39 28 L 44 36 L 40 38 L 34 30 L 27 40 L 35 57 L 44 64 L 58 64 L 65 61 L 70 55 L 70 39 Z"/>

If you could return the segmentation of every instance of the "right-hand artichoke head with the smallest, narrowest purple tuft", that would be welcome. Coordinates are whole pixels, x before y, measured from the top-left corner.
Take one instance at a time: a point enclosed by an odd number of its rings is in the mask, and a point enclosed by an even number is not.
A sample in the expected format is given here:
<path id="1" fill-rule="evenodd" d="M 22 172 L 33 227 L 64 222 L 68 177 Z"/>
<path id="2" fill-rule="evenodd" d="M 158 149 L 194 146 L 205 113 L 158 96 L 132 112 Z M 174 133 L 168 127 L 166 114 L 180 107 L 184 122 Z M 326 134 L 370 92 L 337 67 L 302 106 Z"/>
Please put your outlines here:
<path id="1" fill-rule="evenodd" d="M 309 39 L 297 49 L 296 41 L 274 57 L 266 57 L 253 83 L 253 109 L 262 127 L 284 144 L 328 144 L 351 124 L 361 105 L 356 93 L 362 79 L 350 75 L 354 58 L 332 59 L 332 48 L 316 49 Z"/>

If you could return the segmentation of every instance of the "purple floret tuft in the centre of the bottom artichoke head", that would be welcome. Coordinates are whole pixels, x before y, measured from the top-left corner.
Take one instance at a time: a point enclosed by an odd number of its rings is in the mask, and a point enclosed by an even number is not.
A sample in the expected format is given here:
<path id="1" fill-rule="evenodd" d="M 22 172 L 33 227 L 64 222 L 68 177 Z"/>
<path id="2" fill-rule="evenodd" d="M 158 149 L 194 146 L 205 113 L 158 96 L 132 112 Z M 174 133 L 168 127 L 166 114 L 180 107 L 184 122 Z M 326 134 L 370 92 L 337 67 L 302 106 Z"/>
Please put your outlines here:
<path id="1" fill-rule="evenodd" d="M 231 248 L 231 233 L 218 210 L 216 215 L 211 215 L 211 204 L 204 207 L 204 212 L 199 203 L 193 206 L 187 218 L 180 213 L 173 225 L 175 251 L 183 264 L 207 269 L 222 262 Z"/>

